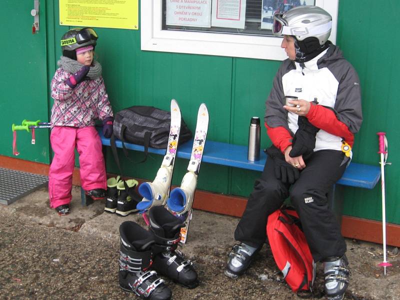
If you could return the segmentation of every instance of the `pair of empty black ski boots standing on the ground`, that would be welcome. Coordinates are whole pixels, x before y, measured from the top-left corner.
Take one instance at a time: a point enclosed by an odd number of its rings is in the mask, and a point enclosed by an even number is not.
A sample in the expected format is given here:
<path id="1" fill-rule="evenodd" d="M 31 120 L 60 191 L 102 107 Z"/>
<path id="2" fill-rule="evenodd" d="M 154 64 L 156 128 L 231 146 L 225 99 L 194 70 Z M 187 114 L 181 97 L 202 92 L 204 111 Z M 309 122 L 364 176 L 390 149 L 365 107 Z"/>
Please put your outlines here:
<path id="1" fill-rule="evenodd" d="M 119 226 L 119 286 L 143 299 L 170 299 L 172 292 L 158 272 L 186 288 L 196 287 L 192 262 L 176 249 L 183 224 L 163 206 L 149 210 L 149 223 L 150 231 L 133 221 Z"/>

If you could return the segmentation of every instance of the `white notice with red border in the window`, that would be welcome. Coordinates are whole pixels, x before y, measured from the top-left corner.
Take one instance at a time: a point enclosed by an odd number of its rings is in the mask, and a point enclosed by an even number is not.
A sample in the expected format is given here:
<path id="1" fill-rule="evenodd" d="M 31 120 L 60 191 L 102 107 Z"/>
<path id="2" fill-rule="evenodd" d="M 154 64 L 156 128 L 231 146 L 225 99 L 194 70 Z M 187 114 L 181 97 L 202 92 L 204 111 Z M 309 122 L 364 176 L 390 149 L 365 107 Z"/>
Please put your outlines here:
<path id="1" fill-rule="evenodd" d="M 213 0 L 212 26 L 244 28 L 246 0 Z"/>

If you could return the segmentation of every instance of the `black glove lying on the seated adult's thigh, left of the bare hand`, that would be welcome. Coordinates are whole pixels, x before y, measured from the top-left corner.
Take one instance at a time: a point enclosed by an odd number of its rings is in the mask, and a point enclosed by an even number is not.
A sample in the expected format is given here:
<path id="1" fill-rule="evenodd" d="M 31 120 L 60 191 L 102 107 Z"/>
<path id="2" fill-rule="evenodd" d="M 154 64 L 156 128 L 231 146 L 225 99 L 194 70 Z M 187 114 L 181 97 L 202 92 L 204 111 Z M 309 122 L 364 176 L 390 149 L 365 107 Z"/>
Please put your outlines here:
<path id="1" fill-rule="evenodd" d="M 274 145 L 265 149 L 265 152 L 275 162 L 275 176 L 280 179 L 283 183 L 294 183 L 300 176 L 300 172 L 290 163 L 287 163 L 284 159 L 283 153 L 276 148 Z"/>

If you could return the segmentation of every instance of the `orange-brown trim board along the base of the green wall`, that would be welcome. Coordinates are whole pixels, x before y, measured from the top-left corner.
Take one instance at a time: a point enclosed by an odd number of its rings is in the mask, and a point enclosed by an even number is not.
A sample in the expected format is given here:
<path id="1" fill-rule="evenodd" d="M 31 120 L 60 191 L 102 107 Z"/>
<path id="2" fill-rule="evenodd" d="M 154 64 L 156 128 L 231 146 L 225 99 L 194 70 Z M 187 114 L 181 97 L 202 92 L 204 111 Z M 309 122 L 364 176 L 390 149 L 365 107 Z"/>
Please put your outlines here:
<path id="1" fill-rule="evenodd" d="M 0 167 L 47 175 L 49 165 L 0 155 Z M 110 174 L 109 174 L 110 175 Z M 143 179 L 137 179 L 142 182 Z M 79 168 L 74 169 L 72 184 L 80 185 Z M 193 208 L 240 217 L 246 198 L 197 190 Z M 382 222 L 343 215 L 341 233 L 345 237 L 382 243 Z M 386 223 L 386 244 L 400 246 L 400 225 Z"/>

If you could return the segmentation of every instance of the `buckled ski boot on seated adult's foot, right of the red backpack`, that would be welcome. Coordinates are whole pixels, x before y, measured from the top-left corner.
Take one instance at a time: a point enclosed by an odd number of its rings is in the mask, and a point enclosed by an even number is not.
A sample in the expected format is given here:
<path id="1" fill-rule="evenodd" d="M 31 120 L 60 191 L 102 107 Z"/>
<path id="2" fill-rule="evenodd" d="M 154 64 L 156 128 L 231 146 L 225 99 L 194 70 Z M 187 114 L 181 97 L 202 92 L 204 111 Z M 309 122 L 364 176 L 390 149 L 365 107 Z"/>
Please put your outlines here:
<path id="1" fill-rule="evenodd" d="M 324 290 L 329 300 L 341 300 L 348 286 L 350 270 L 346 255 L 323 259 Z"/>

